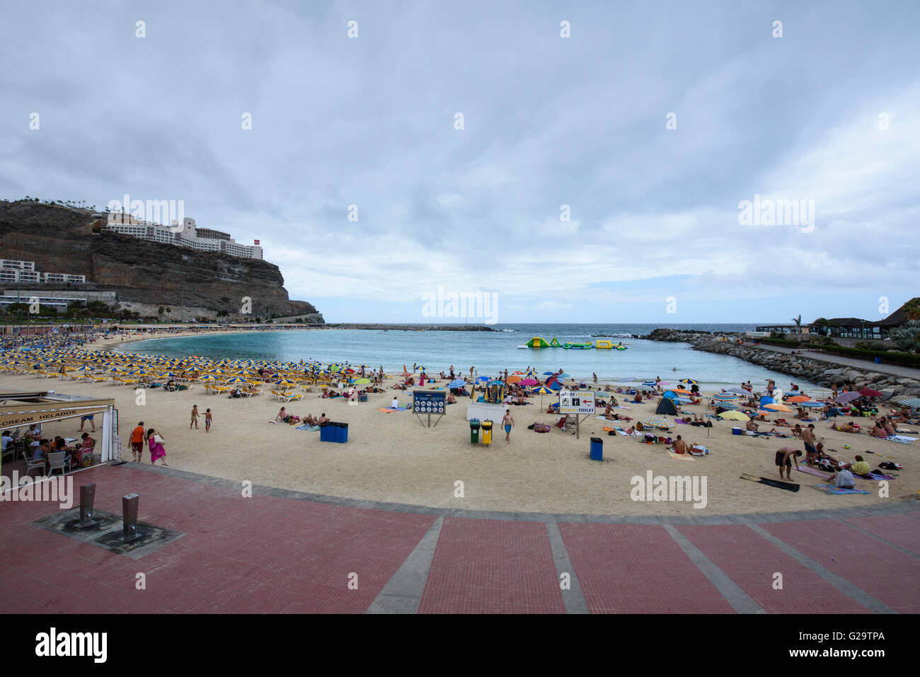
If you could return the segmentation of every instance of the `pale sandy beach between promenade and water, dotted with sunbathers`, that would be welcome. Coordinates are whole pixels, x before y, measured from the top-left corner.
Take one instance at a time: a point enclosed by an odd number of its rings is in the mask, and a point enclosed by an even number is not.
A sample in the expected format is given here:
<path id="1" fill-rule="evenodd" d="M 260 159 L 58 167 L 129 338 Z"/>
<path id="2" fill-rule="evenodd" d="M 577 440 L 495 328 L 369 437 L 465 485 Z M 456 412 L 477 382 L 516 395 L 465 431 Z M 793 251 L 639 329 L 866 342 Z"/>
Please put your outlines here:
<path id="1" fill-rule="evenodd" d="M 176 335 L 170 335 L 176 336 Z M 146 337 L 143 337 L 146 338 Z M 125 342 L 130 340 L 125 338 Z M 122 343 L 118 337 L 98 340 L 88 350 L 108 349 Z M 392 384 L 390 379 L 388 384 Z M 828 484 L 821 478 L 792 471 L 792 481 L 802 485 L 798 493 L 772 488 L 739 478 L 744 473 L 778 479 L 774 454 L 782 446 L 802 449 L 795 438 L 755 439 L 731 434 L 732 421 L 717 420 L 713 428 L 673 425 L 670 436 L 705 445 L 711 453 L 692 461 L 678 459 L 664 444 L 643 444 L 624 436 L 608 436 L 602 426 L 627 425 L 589 418 L 582 421 L 580 439 L 557 428 L 549 433 L 527 430 L 534 422 L 553 424 L 558 416 L 543 413 L 552 396 L 531 399 L 534 405 L 511 407 L 515 428 L 510 443 L 496 430 L 491 446 L 470 443 L 466 421 L 467 398 L 458 398 L 436 428 L 425 428 L 411 411 L 385 413 L 397 391 L 370 394 L 366 403 L 349 406 L 343 398 L 321 399 L 306 394 L 299 403 L 287 405 L 290 413 L 325 413 L 349 424 L 346 444 L 320 442 L 319 432 L 295 430 L 273 424 L 282 403 L 265 394 L 245 399 L 206 395 L 201 384 L 189 391 L 144 390 L 139 405 L 132 387 L 115 384 L 76 383 L 58 379 L 39 380 L 25 374 L 0 374 L 0 388 L 10 390 L 53 389 L 66 394 L 112 397 L 119 409 L 120 433 L 131 460 L 127 439 L 138 421 L 153 427 L 166 439 L 167 462 L 173 468 L 259 485 L 316 494 L 392 501 L 441 508 L 488 511 L 542 511 L 623 515 L 713 515 L 739 512 L 772 512 L 833 509 L 897 500 L 920 488 L 920 470 L 913 463 L 912 445 L 873 439 L 864 431 L 847 434 L 829 430 L 827 421 L 815 423 L 819 441 L 840 461 L 852 461 L 862 453 L 875 468 L 882 461 L 903 464 L 896 480 L 888 483 L 889 498 L 880 496 L 878 482 L 857 478 L 857 488 L 868 495 L 828 496 L 811 485 Z M 400 402 L 410 401 L 408 392 L 397 393 Z M 622 415 L 641 419 L 653 414 L 657 398 L 650 403 L 626 405 Z M 201 412 L 198 430 L 190 430 L 190 411 Z M 213 428 L 205 432 L 203 414 L 213 412 Z M 706 413 L 704 406 L 684 407 L 685 413 Z M 600 413 L 600 412 L 599 412 Z M 883 407 L 882 413 L 887 413 Z M 791 420 L 791 415 L 786 415 Z M 424 418 L 424 417 L 422 417 Z M 772 418 L 772 417 L 771 417 Z M 844 419 L 837 419 L 844 420 Z M 673 421 L 673 417 L 669 422 Z M 48 424 L 45 435 L 74 437 L 74 421 Z M 498 426 L 496 426 L 497 428 Z M 762 424 L 762 430 L 770 426 Z M 909 427 L 907 427 L 909 428 Z M 88 425 L 86 426 L 88 430 Z M 864 425 L 865 430 L 865 425 Z M 668 434 L 659 432 L 658 434 Z M 604 441 L 604 461 L 589 458 L 591 437 Z M 844 445 L 850 444 L 851 450 Z M 834 451 L 832 451 L 834 450 Z M 865 453 L 870 450 L 874 453 Z M 802 456 L 800 461 L 804 460 Z M 144 463 L 149 464 L 144 450 Z M 634 501 L 630 499 L 634 476 L 700 476 L 707 481 L 707 505 L 696 509 L 692 502 Z M 455 496 L 455 483 L 463 482 L 464 495 Z"/>

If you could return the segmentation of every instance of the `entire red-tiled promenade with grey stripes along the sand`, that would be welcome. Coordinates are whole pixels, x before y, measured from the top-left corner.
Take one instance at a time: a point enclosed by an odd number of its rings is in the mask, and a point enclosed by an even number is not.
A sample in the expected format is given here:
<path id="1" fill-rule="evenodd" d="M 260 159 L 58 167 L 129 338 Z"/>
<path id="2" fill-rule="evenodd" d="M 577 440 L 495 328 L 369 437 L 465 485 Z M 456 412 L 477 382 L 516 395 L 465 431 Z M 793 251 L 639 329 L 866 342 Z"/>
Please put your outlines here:
<path id="1" fill-rule="evenodd" d="M 180 532 L 126 557 L 0 506 L 6 613 L 920 613 L 920 502 L 685 518 L 328 499 L 134 464 L 78 473 L 97 511 Z M 138 574 L 145 586 L 138 590 Z"/>

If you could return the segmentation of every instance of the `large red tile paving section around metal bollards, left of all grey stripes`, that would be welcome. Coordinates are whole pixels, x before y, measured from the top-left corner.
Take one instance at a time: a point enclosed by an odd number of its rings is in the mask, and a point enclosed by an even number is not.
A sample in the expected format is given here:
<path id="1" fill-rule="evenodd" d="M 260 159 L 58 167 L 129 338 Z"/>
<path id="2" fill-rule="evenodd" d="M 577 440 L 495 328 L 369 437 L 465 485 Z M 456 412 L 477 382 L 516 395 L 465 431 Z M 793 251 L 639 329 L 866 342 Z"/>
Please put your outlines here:
<path id="1" fill-rule="evenodd" d="M 134 560 L 29 522 L 57 504 L 0 505 L 0 608 L 12 612 L 361 613 L 434 522 L 297 499 L 243 498 L 129 466 L 75 476 L 95 482 L 99 511 L 140 494 L 144 522 L 185 535 Z M 146 590 L 135 588 L 144 572 Z M 349 590 L 351 572 L 357 590 Z"/>

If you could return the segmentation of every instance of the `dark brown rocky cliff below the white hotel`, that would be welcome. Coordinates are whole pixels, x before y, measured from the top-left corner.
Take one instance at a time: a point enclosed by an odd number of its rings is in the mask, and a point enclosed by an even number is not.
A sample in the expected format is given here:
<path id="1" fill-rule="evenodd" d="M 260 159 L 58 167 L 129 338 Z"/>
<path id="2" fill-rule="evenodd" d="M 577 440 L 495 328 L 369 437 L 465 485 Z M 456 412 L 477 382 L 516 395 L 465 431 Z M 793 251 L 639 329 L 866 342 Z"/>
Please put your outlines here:
<path id="1" fill-rule="evenodd" d="M 35 261 L 41 272 L 86 275 L 87 283 L 23 285 L 22 289 L 114 291 L 121 307 L 144 314 L 169 307 L 163 317 L 241 317 L 244 297 L 251 316 L 316 313 L 292 301 L 274 264 L 212 252 L 197 252 L 119 235 L 93 212 L 32 201 L 0 201 L 0 258 Z M 11 288 L 6 283 L 6 288 Z"/>

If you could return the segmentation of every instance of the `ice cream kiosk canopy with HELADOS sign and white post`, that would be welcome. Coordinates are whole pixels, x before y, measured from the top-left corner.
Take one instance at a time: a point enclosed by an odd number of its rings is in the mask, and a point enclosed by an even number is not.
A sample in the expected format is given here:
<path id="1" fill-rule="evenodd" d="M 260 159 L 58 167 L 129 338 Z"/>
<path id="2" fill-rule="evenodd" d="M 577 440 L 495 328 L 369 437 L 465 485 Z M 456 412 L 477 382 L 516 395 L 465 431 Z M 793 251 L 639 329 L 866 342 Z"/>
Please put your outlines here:
<path id="1" fill-rule="evenodd" d="M 64 419 L 95 416 L 97 442 L 94 455 L 98 463 L 121 457 L 118 436 L 118 409 L 113 399 L 94 399 L 48 392 L 0 391 L 0 430 L 13 430 L 15 439 L 32 424 L 45 425 Z M 101 421 L 99 420 L 101 417 Z M 101 423 L 101 425 L 99 425 Z"/>

